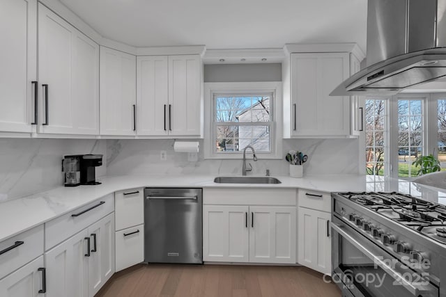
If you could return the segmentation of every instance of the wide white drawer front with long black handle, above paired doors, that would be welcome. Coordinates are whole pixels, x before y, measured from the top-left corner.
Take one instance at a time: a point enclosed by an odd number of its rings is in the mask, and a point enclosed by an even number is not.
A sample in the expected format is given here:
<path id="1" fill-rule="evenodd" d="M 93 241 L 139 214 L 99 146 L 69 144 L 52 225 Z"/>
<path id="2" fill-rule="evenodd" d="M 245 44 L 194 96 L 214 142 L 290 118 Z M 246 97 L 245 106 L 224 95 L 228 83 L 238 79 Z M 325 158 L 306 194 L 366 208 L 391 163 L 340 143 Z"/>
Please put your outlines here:
<path id="1" fill-rule="evenodd" d="M 113 193 L 50 220 L 45 223 L 45 250 L 89 227 L 112 211 L 114 211 Z"/>

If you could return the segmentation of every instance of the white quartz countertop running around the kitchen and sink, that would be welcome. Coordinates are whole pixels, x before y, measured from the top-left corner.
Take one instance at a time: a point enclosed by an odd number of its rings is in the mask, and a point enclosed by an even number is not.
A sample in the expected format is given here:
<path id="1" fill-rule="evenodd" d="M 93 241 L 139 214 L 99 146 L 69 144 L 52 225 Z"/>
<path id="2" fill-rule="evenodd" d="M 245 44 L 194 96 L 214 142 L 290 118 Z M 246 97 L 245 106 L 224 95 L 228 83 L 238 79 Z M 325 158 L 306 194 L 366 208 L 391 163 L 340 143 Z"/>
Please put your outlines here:
<path id="1" fill-rule="evenodd" d="M 229 176 L 229 175 L 224 175 Z M 216 184 L 211 175 L 125 175 L 99 178 L 96 186 L 59 187 L 0 203 L 0 241 L 66 214 L 115 191 L 130 188 L 305 188 L 324 192 L 399 191 L 446 204 L 446 190 L 401 179 L 366 175 L 275 176 L 282 184 Z M 444 191 L 444 193 L 443 193 Z"/>

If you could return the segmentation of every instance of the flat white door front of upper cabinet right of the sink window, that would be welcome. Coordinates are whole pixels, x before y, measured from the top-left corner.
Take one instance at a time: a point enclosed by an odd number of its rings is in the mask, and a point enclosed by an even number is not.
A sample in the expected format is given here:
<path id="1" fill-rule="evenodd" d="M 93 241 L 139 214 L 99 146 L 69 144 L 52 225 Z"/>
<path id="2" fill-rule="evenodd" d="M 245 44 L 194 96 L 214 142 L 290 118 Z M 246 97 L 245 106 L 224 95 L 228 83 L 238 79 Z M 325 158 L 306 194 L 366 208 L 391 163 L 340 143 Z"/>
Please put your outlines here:
<path id="1" fill-rule="evenodd" d="M 329 95 L 349 75 L 348 53 L 291 54 L 293 136 L 350 135 L 350 98 Z"/>

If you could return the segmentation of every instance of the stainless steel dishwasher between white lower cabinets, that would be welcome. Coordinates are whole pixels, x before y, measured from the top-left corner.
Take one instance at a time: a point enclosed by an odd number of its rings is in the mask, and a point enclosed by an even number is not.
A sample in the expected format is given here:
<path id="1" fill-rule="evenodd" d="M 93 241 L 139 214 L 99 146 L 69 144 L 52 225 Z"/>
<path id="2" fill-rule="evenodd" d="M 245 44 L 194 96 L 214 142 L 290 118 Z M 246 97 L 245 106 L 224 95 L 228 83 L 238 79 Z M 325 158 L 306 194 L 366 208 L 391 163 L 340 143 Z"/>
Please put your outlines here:
<path id="1" fill-rule="evenodd" d="M 144 259 L 148 263 L 203 263 L 203 190 L 144 189 Z"/>

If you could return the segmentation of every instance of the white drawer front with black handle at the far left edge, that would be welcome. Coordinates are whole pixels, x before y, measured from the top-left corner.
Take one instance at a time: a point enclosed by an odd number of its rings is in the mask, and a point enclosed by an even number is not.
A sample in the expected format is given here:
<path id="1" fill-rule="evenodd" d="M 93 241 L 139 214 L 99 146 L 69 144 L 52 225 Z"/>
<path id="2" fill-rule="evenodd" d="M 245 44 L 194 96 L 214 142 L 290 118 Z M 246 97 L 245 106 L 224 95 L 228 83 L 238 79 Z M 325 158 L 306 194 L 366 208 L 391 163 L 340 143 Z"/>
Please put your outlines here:
<path id="1" fill-rule="evenodd" d="M 43 254 L 43 224 L 0 242 L 0 279 Z"/>

